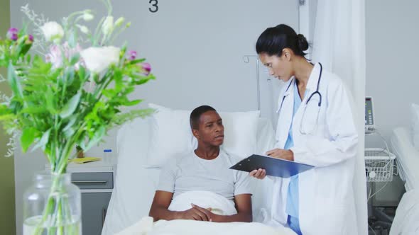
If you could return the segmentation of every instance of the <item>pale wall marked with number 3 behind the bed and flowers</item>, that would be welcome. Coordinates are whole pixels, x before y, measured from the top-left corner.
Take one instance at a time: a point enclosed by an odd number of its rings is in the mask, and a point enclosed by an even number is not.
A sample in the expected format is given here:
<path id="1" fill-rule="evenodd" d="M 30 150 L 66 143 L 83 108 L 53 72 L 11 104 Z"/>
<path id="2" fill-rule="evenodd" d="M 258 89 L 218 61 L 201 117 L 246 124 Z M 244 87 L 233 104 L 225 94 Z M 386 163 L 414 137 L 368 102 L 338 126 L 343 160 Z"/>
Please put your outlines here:
<path id="1" fill-rule="evenodd" d="M 98 1 L 13 0 L 12 26 L 21 25 L 19 7 L 27 2 L 36 12 L 55 21 L 85 8 L 94 7 L 97 13 L 104 13 Z M 149 6 L 146 0 L 114 1 L 114 16 L 132 21 L 122 38 L 129 40 L 130 49 L 148 59 L 157 76 L 156 81 L 138 88 L 134 96 L 172 108 L 192 109 L 209 104 L 218 110 L 256 110 L 256 60 L 245 64 L 243 55 L 256 54 L 255 42 L 269 26 L 286 23 L 298 28 L 297 0 L 159 1 L 157 13 L 150 13 Z M 270 92 L 266 74 L 263 70 L 261 74 L 261 87 L 265 89 L 262 109 L 270 110 L 271 106 L 264 102 Z M 269 116 L 267 111 L 264 113 Z M 104 147 L 114 149 L 115 131 L 109 134 L 106 144 L 88 154 L 100 156 Z M 31 183 L 33 173 L 43 168 L 44 159 L 41 153 L 23 156 L 16 152 L 18 234 L 23 190 Z"/>

